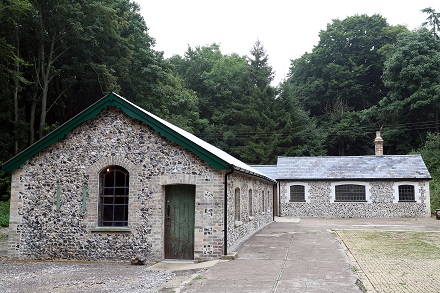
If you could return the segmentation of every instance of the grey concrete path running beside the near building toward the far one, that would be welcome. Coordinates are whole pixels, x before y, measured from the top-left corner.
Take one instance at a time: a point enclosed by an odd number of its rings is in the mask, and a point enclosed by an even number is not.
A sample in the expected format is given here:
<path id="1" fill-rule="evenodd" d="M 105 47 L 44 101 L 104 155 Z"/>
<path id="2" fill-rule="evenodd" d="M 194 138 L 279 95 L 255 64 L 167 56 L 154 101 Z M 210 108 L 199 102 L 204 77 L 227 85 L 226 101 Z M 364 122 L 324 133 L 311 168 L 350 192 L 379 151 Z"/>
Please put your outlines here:
<path id="1" fill-rule="evenodd" d="M 260 231 L 236 260 L 216 264 L 185 292 L 361 292 L 331 230 L 286 220 Z"/>

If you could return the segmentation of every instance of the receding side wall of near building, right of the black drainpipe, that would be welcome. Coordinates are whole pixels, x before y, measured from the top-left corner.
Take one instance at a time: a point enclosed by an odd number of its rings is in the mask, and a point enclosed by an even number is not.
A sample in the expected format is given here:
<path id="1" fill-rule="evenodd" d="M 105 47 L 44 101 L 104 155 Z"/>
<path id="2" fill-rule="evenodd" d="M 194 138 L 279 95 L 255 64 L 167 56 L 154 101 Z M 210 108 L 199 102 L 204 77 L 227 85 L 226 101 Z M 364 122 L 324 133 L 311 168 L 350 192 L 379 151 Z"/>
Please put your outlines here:
<path id="1" fill-rule="evenodd" d="M 235 219 L 235 193 L 240 193 L 240 219 Z M 228 175 L 228 252 L 250 235 L 273 222 L 273 183 L 233 173 Z M 252 212 L 249 194 L 252 196 Z M 264 196 L 263 196 L 264 195 Z M 264 203 L 263 203 L 264 201 Z"/>

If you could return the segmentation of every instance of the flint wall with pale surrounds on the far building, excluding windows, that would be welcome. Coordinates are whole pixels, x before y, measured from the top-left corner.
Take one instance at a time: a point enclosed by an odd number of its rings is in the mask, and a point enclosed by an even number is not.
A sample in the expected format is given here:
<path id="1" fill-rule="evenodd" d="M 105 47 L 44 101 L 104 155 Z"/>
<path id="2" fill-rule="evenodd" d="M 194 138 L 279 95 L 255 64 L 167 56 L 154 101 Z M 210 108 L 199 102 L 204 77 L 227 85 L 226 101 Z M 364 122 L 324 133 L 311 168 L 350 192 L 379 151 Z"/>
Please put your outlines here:
<path id="1" fill-rule="evenodd" d="M 281 215 L 290 217 L 387 218 L 430 216 L 428 181 L 354 182 L 366 186 L 366 202 L 335 202 L 334 186 L 349 182 L 280 182 Z M 306 186 L 306 202 L 289 202 L 289 187 Z M 415 186 L 416 202 L 398 202 L 398 185 Z"/>

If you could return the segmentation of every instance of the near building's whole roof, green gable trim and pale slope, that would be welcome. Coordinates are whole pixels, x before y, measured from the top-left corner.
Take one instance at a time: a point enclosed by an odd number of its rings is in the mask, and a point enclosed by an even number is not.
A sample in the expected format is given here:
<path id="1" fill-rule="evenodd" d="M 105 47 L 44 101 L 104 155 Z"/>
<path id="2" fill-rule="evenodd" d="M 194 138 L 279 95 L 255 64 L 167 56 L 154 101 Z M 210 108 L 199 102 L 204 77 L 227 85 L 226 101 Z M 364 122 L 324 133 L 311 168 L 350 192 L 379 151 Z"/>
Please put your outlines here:
<path id="1" fill-rule="evenodd" d="M 245 170 L 246 173 L 266 178 L 262 173 L 240 160 L 208 144 L 191 133 L 145 111 L 115 93 L 106 95 L 9 161 L 5 162 L 2 165 L 2 170 L 5 172 L 11 172 L 19 168 L 28 159 L 43 151 L 53 143 L 62 140 L 73 129 L 96 117 L 103 109 L 109 106 L 117 107 L 124 111 L 128 116 L 144 122 L 160 135 L 194 153 L 216 170 L 230 170 L 231 168 L 234 168 Z M 271 178 L 266 179 L 271 180 Z"/>

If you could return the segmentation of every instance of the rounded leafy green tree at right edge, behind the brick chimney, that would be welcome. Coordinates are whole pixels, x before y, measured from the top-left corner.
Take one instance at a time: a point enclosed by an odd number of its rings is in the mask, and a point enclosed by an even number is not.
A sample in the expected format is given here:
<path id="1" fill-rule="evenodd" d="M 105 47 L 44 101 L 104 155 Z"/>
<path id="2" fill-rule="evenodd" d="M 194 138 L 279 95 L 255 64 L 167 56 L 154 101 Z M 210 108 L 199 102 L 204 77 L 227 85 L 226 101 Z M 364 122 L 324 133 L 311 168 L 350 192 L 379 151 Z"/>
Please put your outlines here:
<path id="1" fill-rule="evenodd" d="M 383 74 L 388 95 L 375 112 L 395 152 L 418 148 L 427 130 L 439 130 L 440 42 L 427 29 L 401 34 Z"/>

